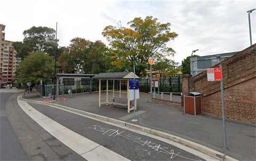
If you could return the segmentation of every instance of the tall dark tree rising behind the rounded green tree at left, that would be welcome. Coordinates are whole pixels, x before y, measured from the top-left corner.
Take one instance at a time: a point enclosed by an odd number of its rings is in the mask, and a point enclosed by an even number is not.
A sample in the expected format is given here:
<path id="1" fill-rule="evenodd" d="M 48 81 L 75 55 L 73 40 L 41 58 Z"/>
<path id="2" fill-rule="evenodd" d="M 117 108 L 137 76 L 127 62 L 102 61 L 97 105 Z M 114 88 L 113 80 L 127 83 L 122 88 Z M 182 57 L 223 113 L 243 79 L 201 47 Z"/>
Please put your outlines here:
<path id="1" fill-rule="evenodd" d="M 23 42 L 13 42 L 12 45 L 17 51 L 16 57 L 22 60 L 28 57 L 30 52 L 39 51 L 55 56 L 55 30 L 48 27 L 31 27 L 23 32 Z M 59 40 L 57 39 L 57 42 Z M 58 46 L 58 44 L 57 44 Z M 59 53 L 59 52 L 57 52 Z M 58 56 L 58 55 L 57 55 Z"/>

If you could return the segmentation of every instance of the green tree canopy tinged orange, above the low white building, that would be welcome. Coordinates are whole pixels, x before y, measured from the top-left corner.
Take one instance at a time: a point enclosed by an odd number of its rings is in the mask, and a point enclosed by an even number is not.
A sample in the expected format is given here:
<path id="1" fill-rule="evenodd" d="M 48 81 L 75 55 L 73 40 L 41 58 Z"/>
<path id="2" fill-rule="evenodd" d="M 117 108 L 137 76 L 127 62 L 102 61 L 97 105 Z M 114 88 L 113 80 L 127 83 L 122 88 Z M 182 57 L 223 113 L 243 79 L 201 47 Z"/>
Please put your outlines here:
<path id="1" fill-rule="evenodd" d="M 75 37 L 65 53 L 58 58 L 61 69 L 65 73 L 79 71 L 83 74 L 99 74 L 106 72 L 107 67 L 103 62 L 108 48 L 101 41 L 91 42 L 87 39 Z"/>

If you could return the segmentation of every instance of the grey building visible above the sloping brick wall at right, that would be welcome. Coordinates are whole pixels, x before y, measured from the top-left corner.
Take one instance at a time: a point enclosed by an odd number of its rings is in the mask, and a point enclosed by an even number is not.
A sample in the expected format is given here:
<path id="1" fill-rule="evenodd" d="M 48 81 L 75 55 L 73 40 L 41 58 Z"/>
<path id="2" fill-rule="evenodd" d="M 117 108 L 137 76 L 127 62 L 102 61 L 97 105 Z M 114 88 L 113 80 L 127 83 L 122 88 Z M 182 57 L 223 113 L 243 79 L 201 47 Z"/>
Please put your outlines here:
<path id="1" fill-rule="evenodd" d="M 198 75 L 202 73 L 207 68 L 211 68 L 214 65 L 217 65 L 219 62 L 228 59 L 229 57 L 235 55 L 238 52 L 231 52 L 231 53 L 223 53 L 223 54 L 214 54 L 214 55 L 207 55 L 204 57 L 193 57 L 193 63 L 190 63 L 190 74 L 192 76 Z M 191 59 L 190 59 L 191 61 Z M 193 65 L 193 68 L 192 68 Z"/>

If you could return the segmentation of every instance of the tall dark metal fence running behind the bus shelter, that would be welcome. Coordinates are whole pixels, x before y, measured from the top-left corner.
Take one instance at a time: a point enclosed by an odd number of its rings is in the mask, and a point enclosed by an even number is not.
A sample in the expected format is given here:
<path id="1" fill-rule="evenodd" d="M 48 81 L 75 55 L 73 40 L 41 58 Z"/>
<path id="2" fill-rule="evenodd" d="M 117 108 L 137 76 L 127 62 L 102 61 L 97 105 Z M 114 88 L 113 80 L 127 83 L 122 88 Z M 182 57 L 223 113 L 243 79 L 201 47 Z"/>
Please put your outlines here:
<path id="1" fill-rule="evenodd" d="M 153 88 L 153 92 L 169 92 L 172 93 L 172 95 L 180 95 L 175 93 L 181 93 L 182 92 L 182 77 L 154 77 L 158 78 L 158 88 Z M 108 82 L 108 90 L 119 90 L 119 81 L 121 81 L 121 90 L 127 90 L 127 80 L 115 80 L 115 86 L 113 86 L 113 80 L 109 80 Z M 99 79 L 86 79 L 86 81 L 76 80 L 73 82 L 59 82 L 59 84 L 62 84 L 62 92 L 63 94 L 68 94 L 68 90 L 72 88 L 73 94 L 77 93 L 90 93 L 90 92 L 98 92 L 99 91 Z M 42 87 L 42 93 L 43 96 L 49 96 L 51 87 L 45 86 L 52 86 L 53 83 L 44 83 Z M 141 78 L 139 79 L 139 88 L 140 92 L 149 93 L 150 92 L 150 78 Z M 37 86 L 37 90 L 41 90 L 41 86 Z M 101 90 L 105 91 L 107 90 L 107 81 L 102 80 L 101 81 Z M 62 94 L 62 93 L 61 93 Z"/>

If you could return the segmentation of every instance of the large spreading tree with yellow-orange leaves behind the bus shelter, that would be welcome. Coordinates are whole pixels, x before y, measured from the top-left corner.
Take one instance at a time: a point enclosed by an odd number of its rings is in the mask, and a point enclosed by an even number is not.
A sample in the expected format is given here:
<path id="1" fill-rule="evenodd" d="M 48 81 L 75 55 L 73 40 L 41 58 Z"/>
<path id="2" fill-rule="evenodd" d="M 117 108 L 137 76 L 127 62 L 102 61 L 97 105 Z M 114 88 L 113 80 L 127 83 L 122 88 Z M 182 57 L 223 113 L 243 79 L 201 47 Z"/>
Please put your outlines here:
<path id="1" fill-rule="evenodd" d="M 175 51 L 167 47 L 166 43 L 174 40 L 178 34 L 170 32 L 171 23 L 159 23 L 153 17 L 134 18 L 127 23 L 131 28 L 107 26 L 102 35 L 107 38 L 112 46 L 110 50 L 112 65 L 121 70 L 133 71 L 140 76 L 146 74 L 149 58 L 155 58 L 155 54 L 161 57 L 173 56 Z M 118 70 L 113 68 L 114 70 Z"/>

